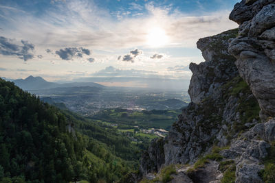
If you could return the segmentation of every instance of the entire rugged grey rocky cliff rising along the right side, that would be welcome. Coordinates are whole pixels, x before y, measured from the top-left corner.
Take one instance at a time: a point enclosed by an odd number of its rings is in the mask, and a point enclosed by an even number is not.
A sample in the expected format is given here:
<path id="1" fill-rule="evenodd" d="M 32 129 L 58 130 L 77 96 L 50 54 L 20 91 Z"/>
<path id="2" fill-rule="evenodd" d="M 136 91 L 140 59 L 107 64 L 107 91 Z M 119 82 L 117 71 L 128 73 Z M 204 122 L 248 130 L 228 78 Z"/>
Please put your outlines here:
<path id="1" fill-rule="evenodd" d="M 192 102 L 142 156 L 143 175 L 191 164 L 183 171 L 189 182 L 226 182 L 228 175 L 235 182 L 270 181 L 265 162 L 275 140 L 275 1 L 243 0 L 230 19 L 239 29 L 197 42 L 206 61 L 190 64 Z M 203 178 L 199 172 L 209 170 L 209 162 L 220 173 Z"/>

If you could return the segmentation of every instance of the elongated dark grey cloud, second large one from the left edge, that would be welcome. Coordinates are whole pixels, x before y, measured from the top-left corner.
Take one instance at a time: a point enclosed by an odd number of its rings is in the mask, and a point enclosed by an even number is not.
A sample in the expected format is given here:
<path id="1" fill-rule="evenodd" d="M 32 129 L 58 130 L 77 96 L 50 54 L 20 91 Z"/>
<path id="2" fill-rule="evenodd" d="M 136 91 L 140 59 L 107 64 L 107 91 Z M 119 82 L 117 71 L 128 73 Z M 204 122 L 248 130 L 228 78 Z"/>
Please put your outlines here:
<path id="1" fill-rule="evenodd" d="M 89 56 L 91 54 L 91 51 L 83 47 L 67 47 L 65 49 L 60 49 L 59 51 L 56 51 L 56 54 L 63 60 L 72 60 L 74 56 L 78 58 L 82 58 L 83 54 Z"/>

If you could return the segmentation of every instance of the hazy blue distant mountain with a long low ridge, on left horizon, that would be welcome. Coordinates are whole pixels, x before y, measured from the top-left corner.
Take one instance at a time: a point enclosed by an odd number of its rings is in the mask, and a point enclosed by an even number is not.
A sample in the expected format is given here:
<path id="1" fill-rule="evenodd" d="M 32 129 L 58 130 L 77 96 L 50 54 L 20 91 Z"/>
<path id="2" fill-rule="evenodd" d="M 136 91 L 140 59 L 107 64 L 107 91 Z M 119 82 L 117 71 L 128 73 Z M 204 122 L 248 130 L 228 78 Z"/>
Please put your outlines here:
<path id="1" fill-rule="evenodd" d="M 94 82 L 73 82 L 73 83 L 66 83 L 66 84 L 58 84 L 54 82 L 47 82 L 42 77 L 33 77 L 30 75 L 29 77 L 19 80 L 13 80 L 14 84 L 22 88 L 23 90 L 41 90 L 41 89 L 48 89 L 48 88 L 57 88 L 57 87 L 80 87 L 80 86 L 93 86 L 93 87 L 104 87 L 101 84 L 96 84 Z"/>

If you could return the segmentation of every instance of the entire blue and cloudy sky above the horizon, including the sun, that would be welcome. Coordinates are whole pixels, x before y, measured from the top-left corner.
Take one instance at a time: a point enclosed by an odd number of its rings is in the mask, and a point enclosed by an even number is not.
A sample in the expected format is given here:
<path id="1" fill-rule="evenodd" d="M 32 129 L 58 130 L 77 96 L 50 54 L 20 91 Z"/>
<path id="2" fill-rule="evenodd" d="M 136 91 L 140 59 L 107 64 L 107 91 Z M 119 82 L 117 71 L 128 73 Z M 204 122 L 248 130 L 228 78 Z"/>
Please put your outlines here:
<path id="1" fill-rule="evenodd" d="M 190 80 L 236 0 L 0 0 L 0 76 Z"/>

